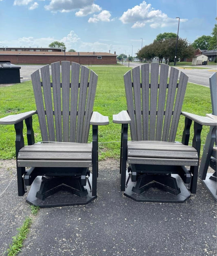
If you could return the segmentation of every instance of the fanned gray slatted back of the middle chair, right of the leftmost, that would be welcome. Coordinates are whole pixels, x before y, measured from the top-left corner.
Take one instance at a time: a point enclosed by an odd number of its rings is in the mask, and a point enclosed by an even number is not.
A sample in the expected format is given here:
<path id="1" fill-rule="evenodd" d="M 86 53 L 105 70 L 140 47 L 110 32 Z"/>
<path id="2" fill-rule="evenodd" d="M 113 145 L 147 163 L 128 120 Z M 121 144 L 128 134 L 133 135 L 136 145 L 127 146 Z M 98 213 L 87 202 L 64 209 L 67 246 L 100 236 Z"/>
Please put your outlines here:
<path id="1" fill-rule="evenodd" d="M 188 77 L 169 66 L 149 63 L 124 75 L 132 140 L 174 141 Z M 141 68 L 141 76 L 140 76 Z M 160 75 L 160 78 L 159 78 Z M 167 82 L 169 76 L 169 83 Z"/>

